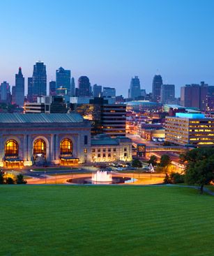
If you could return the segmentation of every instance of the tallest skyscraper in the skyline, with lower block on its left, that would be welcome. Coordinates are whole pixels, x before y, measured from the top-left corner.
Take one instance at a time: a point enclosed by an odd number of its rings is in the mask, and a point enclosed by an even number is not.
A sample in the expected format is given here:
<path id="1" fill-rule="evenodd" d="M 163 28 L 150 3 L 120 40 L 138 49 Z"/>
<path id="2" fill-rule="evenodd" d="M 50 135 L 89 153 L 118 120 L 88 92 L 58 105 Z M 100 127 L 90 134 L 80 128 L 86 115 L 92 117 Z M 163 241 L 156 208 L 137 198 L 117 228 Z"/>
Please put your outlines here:
<path id="1" fill-rule="evenodd" d="M 32 84 L 28 80 L 28 98 L 30 102 L 36 102 L 37 97 L 47 95 L 47 75 L 46 66 L 43 61 L 37 61 L 33 65 Z"/>

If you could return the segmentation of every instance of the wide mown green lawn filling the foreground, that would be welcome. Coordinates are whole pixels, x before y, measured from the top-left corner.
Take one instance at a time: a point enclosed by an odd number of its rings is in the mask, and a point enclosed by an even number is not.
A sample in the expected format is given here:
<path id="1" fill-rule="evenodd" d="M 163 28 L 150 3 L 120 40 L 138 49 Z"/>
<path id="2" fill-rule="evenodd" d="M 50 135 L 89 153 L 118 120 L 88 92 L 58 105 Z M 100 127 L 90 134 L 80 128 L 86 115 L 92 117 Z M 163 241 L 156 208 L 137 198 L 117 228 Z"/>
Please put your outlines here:
<path id="1" fill-rule="evenodd" d="M 214 254 L 214 197 L 194 189 L 1 186 L 0 193 L 0 255 Z"/>

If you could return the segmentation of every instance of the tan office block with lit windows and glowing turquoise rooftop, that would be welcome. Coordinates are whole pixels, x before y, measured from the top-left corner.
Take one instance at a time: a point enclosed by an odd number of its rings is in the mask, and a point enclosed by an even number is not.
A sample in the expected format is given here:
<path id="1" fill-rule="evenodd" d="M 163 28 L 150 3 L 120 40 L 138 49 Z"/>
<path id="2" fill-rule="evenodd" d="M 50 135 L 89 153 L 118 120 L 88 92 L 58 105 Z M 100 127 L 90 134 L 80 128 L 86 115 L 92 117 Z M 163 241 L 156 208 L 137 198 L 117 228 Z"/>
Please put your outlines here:
<path id="1" fill-rule="evenodd" d="M 183 146 L 214 146 L 214 119 L 206 118 L 204 114 L 167 116 L 165 141 Z"/>

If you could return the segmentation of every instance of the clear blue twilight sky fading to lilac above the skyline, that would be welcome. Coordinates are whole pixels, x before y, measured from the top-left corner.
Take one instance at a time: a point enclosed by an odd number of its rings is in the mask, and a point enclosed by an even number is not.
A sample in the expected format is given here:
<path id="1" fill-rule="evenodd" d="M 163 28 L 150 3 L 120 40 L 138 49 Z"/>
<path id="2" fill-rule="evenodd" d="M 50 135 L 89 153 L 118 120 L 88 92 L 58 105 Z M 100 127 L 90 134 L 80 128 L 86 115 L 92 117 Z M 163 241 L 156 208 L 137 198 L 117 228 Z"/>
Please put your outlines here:
<path id="1" fill-rule="evenodd" d="M 59 66 L 128 96 L 132 76 L 151 91 L 153 75 L 180 86 L 214 85 L 213 0 L 7 0 L 0 2 L 0 82 L 22 67 Z M 27 81 L 27 78 L 26 78 Z M 26 83 L 25 81 L 25 83 Z"/>

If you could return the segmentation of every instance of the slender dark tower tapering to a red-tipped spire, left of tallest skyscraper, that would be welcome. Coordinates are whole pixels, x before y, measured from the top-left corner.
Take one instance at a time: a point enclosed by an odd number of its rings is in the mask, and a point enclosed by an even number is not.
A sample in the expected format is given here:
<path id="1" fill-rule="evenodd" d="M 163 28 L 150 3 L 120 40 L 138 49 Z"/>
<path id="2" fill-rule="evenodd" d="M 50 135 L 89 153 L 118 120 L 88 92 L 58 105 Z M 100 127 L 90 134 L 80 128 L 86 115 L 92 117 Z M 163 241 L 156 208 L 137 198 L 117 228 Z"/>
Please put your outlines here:
<path id="1" fill-rule="evenodd" d="M 15 104 L 20 107 L 24 106 L 24 77 L 22 68 L 19 68 L 19 73 L 15 74 Z"/>

